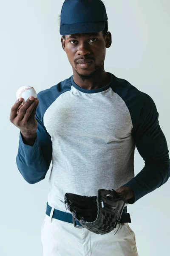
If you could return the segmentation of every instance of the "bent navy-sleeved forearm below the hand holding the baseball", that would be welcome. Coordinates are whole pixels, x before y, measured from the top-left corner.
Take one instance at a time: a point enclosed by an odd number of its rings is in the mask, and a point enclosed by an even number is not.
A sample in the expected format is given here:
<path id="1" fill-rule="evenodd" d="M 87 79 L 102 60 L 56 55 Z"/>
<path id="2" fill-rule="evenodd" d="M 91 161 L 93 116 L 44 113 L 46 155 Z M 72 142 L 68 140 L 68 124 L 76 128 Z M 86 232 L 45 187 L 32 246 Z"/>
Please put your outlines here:
<path id="1" fill-rule="evenodd" d="M 34 145 L 26 145 L 21 134 L 16 162 L 21 175 L 30 184 L 44 179 L 50 165 L 50 160 L 42 155 L 38 138 L 36 137 Z"/>

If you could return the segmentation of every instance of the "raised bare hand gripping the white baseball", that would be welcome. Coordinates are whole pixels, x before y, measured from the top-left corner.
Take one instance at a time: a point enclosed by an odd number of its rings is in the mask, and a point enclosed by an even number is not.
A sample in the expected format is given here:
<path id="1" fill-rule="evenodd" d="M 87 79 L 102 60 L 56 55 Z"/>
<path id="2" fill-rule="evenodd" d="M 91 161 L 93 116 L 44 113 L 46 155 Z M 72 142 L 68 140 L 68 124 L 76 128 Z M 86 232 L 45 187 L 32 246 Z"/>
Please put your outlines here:
<path id="1" fill-rule="evenodd" d="M 35 137 L 37 131 L 37 120 L 35 119 L 35 113 L 39 104 L 38 99 L 31 97 L 33 100 L 27 99 L 25 103 L 17 100 L 11 108 L 10 122 L 20 129 L 23 137 Z"/>

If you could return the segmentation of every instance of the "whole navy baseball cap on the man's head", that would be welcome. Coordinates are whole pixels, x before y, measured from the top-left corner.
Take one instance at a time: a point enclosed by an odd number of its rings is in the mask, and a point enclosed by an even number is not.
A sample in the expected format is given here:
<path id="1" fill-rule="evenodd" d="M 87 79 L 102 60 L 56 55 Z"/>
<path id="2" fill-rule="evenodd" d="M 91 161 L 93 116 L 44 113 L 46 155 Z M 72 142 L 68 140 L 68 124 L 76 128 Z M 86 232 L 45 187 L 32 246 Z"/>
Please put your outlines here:
<path id="1" fill-rule="evenodd" d="M 61 10 L 60 35 L 103 31 L 108 20 L 101 0 L 65 0 Z"/>

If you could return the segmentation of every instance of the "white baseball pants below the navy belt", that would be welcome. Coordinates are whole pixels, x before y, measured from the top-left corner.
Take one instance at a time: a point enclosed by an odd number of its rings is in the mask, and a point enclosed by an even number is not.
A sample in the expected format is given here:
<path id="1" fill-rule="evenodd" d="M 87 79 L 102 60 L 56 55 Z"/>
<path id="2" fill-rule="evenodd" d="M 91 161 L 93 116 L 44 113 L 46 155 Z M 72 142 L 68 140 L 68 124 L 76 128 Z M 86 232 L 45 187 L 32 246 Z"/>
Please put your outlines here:
<path id="1" fill-rule="evenodd" d="M 41 241 L 43 256 L 138 256 L 135 234 L 128 223 L 98 235 L 45 215 Z"/>

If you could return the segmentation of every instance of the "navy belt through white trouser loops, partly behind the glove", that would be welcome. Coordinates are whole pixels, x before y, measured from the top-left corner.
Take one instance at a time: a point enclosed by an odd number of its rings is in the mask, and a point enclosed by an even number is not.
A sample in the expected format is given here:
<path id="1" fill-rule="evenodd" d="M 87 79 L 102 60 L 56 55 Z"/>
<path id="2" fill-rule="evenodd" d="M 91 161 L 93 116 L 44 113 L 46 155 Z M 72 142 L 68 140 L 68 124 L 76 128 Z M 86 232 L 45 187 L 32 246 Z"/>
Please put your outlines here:
<path id="1" fill-rule="evenodd" d="M 47 202 L 47 209 L 46 209 L 46 215 L 50 216 L 50 213 L 51 213 L 51 209 L 52 207 L 49 206 L 48 202 Z M 127 206 L 123 209 L 123 213 L 127 213 Z M 123 215 L 122 213 L 122 215 Z M 71 215 L 71 213 L 68 213 L 68 212 L 62 212 L 62 211 L 59 211 L 57 209 L 54 209 L 54 212 L 53 212 L 53 215 L 51 216 L 52 218 L 55 218 L 57 220 L 60 220 L 60 221 L 65 221 L 65 222 L 68 222 L 68 223 L 72 223 L 74 224 L 74 227 L 83 227 L 79 221 L 77 221 L 75 218 L 73 218 L 73 216 Z"/>

